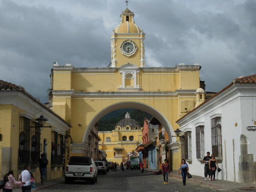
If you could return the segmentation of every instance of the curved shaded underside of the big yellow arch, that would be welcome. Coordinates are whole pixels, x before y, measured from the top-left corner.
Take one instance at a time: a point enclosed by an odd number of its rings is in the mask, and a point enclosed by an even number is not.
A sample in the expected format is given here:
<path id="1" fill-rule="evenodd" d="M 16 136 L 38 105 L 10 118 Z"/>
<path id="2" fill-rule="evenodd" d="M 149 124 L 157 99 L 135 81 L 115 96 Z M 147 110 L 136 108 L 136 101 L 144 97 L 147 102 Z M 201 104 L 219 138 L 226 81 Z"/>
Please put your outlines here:
<path id="1" fill-rule="evenodd" d="M 170 124 L 168 119 L 157 109 L 155 109 L 145 103 L 141 103 L 141 102 L 118 102 L 118 103 L 115 103 L 113 105 L 110 105 L 110 106 L 102 109 L 98 114 L 96 114 L 96 116 L 93 117 L 93 119 L 90 121 L 90 123 L 87 126 L 87 129 L 84 133 L 82 142 L 83 143 L 86 142 L 86 140 L 90 134 L 90 131 L 93 129 L 93 126 L 96 124 L 96 122 L 99 121 L 99 119 L 101 119 L 103 116 L 105 116 L 106 114 L 108 114 L 112 111 L 115 111 L 117 109 L 122 109 L 122 108 L 134 108 L 134 109 L 139 109 L 141 111 L 150 113 L 159 122 L 161 122 L 163 127 L 166 129 L 166 132 L 167 132 L 169 138 L 173 138 L 174 141 L 177 140 L 176 137 L 172 137 L 172 136 L 175 136 L 175 133 L 173 132 L 174 130 L 172 128 L 172 125 Z"/>

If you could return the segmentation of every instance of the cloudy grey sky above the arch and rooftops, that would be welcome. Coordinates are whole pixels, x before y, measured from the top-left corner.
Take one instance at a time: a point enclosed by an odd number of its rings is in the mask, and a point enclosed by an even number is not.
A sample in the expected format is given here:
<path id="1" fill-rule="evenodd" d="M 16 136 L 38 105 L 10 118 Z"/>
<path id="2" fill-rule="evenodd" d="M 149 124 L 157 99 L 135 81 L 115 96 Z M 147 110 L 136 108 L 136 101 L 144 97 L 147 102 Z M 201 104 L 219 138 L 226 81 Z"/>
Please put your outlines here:
<path id="1" fill-rule="evenodd" d="M 52 63 L 105 67 L 125 0 L 0 0 L 0 79 L 47 102 Z M 130 0 L 148 67 L 199 63 L 207 91 L 256 73 L 256 0 Z"/>

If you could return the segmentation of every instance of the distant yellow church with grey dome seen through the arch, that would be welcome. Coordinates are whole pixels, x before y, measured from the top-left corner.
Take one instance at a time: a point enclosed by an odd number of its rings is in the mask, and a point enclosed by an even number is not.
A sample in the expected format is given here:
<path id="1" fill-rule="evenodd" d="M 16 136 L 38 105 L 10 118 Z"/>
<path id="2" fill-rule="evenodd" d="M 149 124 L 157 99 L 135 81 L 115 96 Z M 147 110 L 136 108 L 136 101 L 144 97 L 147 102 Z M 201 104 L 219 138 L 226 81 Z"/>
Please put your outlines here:
<path id="1" fill-rule="evenodd" d="M 99 148 L 106 152 L 107 160 L 117 163 L 127 160 L 127 154 L 142 142 L 140 124 L 126 113 L 112 131 L 99 131 Z"/>

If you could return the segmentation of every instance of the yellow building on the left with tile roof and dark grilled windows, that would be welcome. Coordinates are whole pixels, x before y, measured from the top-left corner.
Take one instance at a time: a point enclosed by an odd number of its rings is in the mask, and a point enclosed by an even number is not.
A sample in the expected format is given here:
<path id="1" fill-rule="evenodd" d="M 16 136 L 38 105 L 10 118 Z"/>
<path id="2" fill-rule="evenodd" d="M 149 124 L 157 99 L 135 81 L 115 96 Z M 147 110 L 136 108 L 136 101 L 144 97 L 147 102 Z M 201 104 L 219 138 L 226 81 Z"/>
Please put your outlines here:
<path id="1" fill-rule="evenodd" d="M 48 119 L 47 128 L 39 127 L 36 119 L 41 115 Z M 29 164 L 35 181 L 40 182 L 37 162 L 41 154 L 49 160 L 47 180 L 62 177 L 68 147 L 64 137 L 70 127 L 23 87 L 0 80 L 0 178 L 13 170 L 17 179 Z"/>

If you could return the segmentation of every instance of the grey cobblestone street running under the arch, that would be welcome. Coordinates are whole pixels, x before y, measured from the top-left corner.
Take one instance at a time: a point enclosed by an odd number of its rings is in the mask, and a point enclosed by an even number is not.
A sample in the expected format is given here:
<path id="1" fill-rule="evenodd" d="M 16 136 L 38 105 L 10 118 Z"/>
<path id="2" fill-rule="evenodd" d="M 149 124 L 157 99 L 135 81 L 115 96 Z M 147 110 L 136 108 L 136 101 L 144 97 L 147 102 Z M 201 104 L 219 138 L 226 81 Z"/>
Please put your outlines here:
<path id="1" fill-rule="evenodd" d="M 219 181 L 221 182 L 221 181 Z M 40 192 L 83 192 L 83 191 L 173 191 L 173 192 L 192 192 L 192 191 L 254 191 L 253 189 L 227 189 L 220 186 L 215 186 L 218 180 L 215 182 L 207 181 L 195 181 L 188 179 L 186 186 L 183 186 L 182 180 L 178 177 L 169 177 L 169 184 L 163 184 L 162 175 L 154 175 L 152 172 L 145 171 L 143 174 L 139 170 L 130 169 L 124 172 L 108 172 L 107 175 L 98 175 L 98 182 L 95 185 L 90 185 L 87 182 L 77 181 L 73 184 L 57 184 L 52 187 L 40 189 Z"/>

